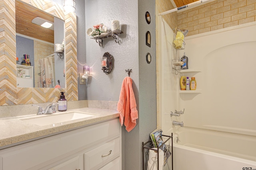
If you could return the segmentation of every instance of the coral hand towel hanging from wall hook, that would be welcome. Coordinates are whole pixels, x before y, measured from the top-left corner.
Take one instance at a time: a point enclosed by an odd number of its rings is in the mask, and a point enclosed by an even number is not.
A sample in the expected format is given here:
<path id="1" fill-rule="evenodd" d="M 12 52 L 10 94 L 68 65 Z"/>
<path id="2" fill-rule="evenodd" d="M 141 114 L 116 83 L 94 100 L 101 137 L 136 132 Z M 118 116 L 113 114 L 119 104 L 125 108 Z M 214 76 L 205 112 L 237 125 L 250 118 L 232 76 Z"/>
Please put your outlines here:
<path id="1" fill-rule="evenodd" d="M 125 77 L 117 104 L 119 111 L 119 121 L 121 125 L 125 125 L 126 131 L 130 132 L 136 126 L 138 119 L 138 111 L 136 101 L 132 90 L 132 78 Z"/>

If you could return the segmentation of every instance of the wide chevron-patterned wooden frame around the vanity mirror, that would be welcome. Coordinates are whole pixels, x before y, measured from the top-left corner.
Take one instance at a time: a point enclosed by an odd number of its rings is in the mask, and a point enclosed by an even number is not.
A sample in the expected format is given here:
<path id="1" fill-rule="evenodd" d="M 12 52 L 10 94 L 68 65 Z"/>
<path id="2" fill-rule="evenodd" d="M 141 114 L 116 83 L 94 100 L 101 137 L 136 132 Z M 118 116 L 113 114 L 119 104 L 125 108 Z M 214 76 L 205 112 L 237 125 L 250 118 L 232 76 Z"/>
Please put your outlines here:
<path id="1" fill-rule="evenodd" d="M 2 0 L 4 20 L 0 43 L 0 105 L 37 104 L 57 102 L 60 92 L 68 101 L 78 100 L 76 14 L 65 13 L 55 2 L 21 0 L 65 21 L 66 88 L 17 88 L 15 0 Z M 1 35 L 0 34 L 0 35 Z"/>

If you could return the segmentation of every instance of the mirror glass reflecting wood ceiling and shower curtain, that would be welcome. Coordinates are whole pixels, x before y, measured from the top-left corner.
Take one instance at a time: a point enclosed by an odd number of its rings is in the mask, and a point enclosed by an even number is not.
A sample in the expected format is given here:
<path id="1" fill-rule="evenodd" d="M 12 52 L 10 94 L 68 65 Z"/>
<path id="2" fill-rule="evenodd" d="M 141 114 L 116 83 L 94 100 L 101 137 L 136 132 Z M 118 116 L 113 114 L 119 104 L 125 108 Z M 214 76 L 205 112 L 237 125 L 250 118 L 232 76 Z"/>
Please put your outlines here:
<path id="1" fill-rule="evenodd" d="M 17 87 L 65 88 L 64 20 L 19 0 L 15 11 Z"/>

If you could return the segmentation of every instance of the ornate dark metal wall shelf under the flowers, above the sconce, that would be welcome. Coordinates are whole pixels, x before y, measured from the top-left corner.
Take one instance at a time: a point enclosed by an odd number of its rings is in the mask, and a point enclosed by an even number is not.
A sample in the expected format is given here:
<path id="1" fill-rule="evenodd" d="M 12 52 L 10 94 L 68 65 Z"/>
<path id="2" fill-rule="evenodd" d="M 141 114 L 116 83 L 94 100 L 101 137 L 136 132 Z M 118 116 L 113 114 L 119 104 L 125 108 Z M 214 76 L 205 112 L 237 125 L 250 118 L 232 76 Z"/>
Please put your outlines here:
<path id="1" fill-rule="evenodd" d="M 108 38 L 108 37 L 113 37 L 116 41 L 116 43 L 119 42 L 119 35 L 123 33 L 120 29 L 116 29 L 114 31 L 110 31 L 108 33 L 101 33 L 101 35 L 96 35 L 92 37 L 91 39 L 95 39 L 96 42 L 102 47 L 103 45 L 103 39 Z"/>

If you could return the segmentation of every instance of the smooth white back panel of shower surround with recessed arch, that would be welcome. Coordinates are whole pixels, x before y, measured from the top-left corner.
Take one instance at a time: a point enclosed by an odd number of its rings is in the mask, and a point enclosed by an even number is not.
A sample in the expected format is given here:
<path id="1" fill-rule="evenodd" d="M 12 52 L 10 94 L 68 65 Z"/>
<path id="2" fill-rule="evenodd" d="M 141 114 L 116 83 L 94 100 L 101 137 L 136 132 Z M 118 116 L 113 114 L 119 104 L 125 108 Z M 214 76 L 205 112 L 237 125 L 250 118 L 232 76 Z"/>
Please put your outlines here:
<path id="1" fill-rule="evenodd" d="M 198 72 L 184 76 L 196 77 L 198 93 L 180 93 L 184 125 L 256 136 L 255 29 L 253 22 L 187 37 L 190 68 Z"/>

